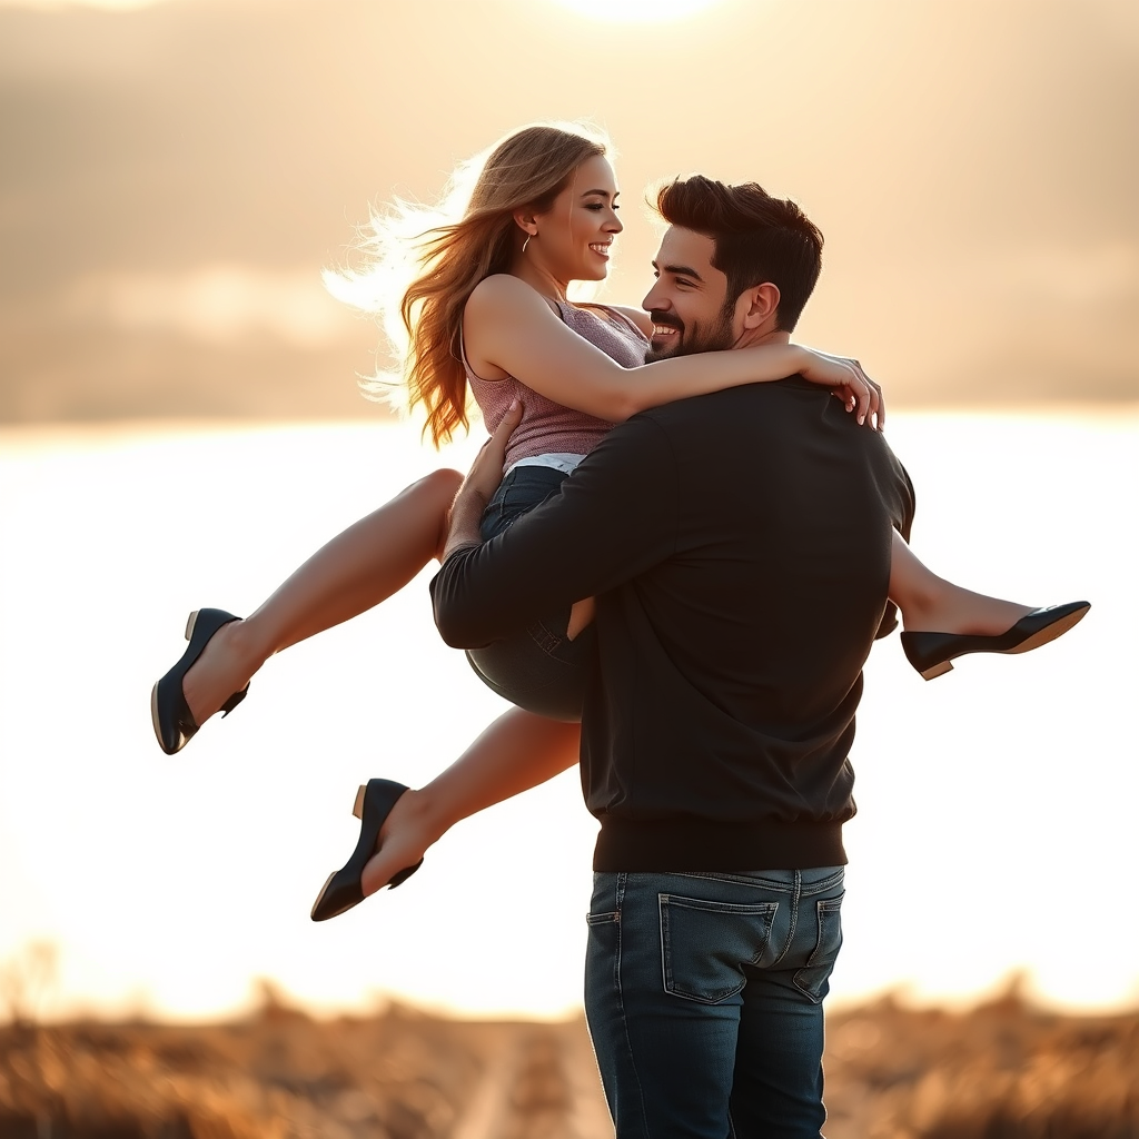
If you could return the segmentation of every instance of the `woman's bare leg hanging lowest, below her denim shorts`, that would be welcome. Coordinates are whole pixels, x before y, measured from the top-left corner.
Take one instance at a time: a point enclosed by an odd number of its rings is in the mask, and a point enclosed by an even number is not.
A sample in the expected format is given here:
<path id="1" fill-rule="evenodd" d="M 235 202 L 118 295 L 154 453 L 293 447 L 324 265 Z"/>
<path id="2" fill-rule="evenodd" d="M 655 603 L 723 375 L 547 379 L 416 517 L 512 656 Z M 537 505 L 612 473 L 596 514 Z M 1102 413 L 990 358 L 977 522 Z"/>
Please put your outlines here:
<path id="1" fill-rule="evenodd" d="M 363 871 L 374 894 L 456 822 L 552 779 L 577 762 L 581 724 L 511 708 L 495 720 L 442 775 L 404 792 L 379 831 L 379 851 Z"/>

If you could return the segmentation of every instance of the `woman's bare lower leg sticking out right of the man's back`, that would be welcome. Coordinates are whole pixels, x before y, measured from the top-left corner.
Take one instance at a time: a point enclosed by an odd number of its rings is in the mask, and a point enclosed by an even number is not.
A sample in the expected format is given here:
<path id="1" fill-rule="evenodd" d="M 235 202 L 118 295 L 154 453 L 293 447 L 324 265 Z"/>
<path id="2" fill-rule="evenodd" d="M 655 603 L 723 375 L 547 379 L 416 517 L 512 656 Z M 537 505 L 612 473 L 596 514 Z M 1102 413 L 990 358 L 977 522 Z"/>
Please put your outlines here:
<path id="1" fill-rule="evenodd" d="M 999 636 L 1034 608 L 974 593 L 939 577 L 915 557 L 896 530 L 890 566 L 890 599 L 901 609 L 902 625 L 910 632 L 981 637 Z"/>

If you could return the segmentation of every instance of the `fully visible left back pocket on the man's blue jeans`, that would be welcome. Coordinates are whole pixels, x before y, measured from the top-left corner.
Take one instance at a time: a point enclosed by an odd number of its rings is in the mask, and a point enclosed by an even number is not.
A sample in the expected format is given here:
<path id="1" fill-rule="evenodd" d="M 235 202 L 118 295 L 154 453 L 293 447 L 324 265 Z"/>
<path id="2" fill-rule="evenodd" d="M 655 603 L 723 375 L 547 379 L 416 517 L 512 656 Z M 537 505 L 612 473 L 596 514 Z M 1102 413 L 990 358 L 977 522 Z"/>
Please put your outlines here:
<path id="1" fill-rule="evenodd" d="M 745 983 L 771 937 L 778 902 L 746 906 L 661 894 L 661 947 L 665 992 L 716 1005 Z"/>

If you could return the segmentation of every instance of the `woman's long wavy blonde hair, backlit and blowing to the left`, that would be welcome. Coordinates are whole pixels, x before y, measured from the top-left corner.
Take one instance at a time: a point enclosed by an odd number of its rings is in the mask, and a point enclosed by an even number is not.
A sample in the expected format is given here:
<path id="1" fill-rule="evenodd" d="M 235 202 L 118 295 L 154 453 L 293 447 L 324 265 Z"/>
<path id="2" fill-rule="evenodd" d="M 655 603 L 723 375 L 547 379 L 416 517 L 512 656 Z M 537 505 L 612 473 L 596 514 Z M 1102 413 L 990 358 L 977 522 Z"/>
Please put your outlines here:
<path id="1" fill-rule="evenodd" d="M 598 131 L 576 123 L 524 126 L 459 166 L 440 207 L 398 202 L 374 214 L 362 241 L 369 264 L 325 274 L 335 296 L 380 314 L 401 350 L 409 405 L 423 404 L 436 446 L 469 426 L 462 310 L 481 280 L 509 270 L 522 233 L 515 212 L 546 213 L 576 167 L 607 149 Z M 377 375 L 366 387 L 391 392 L 392 383 Z"/>

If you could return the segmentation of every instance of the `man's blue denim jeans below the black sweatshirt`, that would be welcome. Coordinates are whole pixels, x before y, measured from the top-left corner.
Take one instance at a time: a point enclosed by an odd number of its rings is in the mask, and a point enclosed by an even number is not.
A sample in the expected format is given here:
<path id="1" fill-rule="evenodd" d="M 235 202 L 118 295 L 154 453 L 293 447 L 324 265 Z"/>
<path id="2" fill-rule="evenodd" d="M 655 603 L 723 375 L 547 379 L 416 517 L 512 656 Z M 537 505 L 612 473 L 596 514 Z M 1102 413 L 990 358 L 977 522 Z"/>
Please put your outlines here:
<path id="1" fill-rule="evenodd" d="M 842 867 L 597 874 L 585 1014 L 617 1139 L 819 1139 Z"/>

